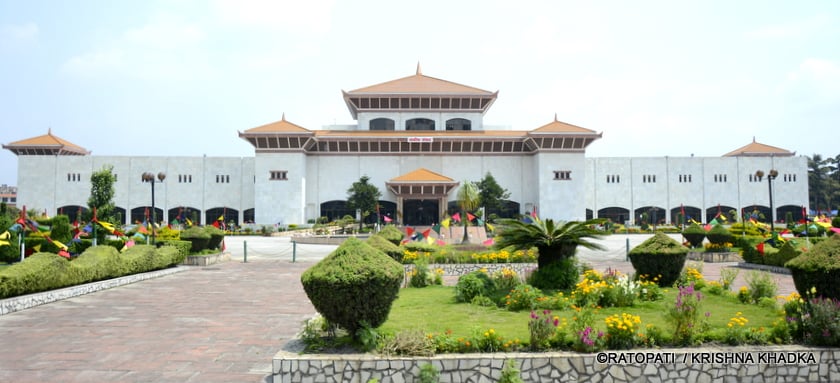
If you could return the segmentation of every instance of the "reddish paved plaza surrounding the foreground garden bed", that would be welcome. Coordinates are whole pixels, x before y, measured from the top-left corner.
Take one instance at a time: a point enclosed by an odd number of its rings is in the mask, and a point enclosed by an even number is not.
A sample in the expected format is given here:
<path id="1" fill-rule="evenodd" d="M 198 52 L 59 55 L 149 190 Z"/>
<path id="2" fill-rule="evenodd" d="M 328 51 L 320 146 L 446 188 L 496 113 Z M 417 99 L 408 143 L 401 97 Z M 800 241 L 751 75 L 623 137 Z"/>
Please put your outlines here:
<path id="1" fill-rule="evenodd" d="M 644 237 L 611 236 L 610 251 L 580 256 L 632 272 L 627 239 L 632 247 Z M 279 237 L 226 244 L 230 262 L 0 316 L 0 382 L 270 382 L 272 357 L 315 313 L 300 275 L 335 247 Z M 729 265 L 703 272 L 717 279 Z M 794 291 L 790 276 L 774 278 L 780 294 Z"/>

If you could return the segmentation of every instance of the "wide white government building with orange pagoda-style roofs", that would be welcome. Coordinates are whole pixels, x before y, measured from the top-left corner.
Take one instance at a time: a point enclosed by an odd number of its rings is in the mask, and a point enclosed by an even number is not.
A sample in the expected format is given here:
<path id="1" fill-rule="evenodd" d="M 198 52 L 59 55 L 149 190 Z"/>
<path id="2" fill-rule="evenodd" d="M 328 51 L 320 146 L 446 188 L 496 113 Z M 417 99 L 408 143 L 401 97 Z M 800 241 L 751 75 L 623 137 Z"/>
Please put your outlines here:
<path id="1" fill-rule="evenodd" d="M 707 222 L 758 211 L 776 220 L 808 207 L 807 158 L 758 142 L 721 157 L 587 158 L 602 133 L 558 121 L 533 130 L 485 129 L 498 92 L 421 73 L 343 92 L 355 125 L 308 129 L 280 121 L 239 132 L 253 157 L 94 156 L 46 135 L 4 144 L 18 156 L 17 206 L 74 217 L 86 209 L 90 176 L 113 166 L 114 202 L 125 223 L 151 206 L 159 221 L 179 213 L 200 223 L 301 224 L 355 216 L 347 189 L 361 177 L 382 192 L 380 214 L 430 225 L 454 212 L 457 189 L 491 173 L 510 192 L 513 216 L 534 210 L 560 220 L 610 218 L 671 223 L 684 211 Z M 756 171 L 776 170 L 773 181 Z M 143 173 L 163 173 L 150 187 Z M 452 209 L 452 210 L 450 210 Z M 375 220 L 371 215 L 369 220 Z"/>

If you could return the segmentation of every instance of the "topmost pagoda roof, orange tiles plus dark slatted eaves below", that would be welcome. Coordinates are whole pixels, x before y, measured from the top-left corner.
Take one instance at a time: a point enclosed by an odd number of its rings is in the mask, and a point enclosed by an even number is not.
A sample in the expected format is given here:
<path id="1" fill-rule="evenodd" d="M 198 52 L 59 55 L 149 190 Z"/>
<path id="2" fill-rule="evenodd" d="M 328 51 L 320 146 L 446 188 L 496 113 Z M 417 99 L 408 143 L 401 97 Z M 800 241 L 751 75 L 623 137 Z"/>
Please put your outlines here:
<path id="1" fill-rule="evenodd" d="M 479 112 L 485 113 L 499 92 L 424 75 L 417 64 L 412 76 L 342 91 L 354 119 L 359 112 Z"/>

